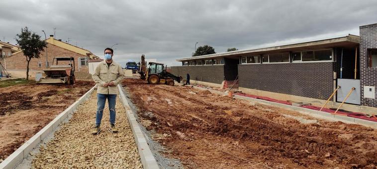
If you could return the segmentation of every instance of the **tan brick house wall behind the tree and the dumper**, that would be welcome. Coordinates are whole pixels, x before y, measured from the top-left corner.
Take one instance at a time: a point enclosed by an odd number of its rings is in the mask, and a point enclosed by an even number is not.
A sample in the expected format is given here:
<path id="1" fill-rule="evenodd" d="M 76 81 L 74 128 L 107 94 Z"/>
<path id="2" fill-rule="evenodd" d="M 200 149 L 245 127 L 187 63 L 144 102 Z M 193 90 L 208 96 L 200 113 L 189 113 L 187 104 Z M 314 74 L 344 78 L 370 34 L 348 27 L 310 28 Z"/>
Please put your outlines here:
<path id="1" fill-rule="evenodd" d="M 86 57 L 84 55 L 66 50 L 64 48 L 57 47 L 55 45 L 47 44 L 47 56 L 50 65 L 52 65 L 52 60 L 54 57 L 69 57 L 72 56 L 75 58 L 75 67 L 76 71 L 79 71 L 79 57 Z M 38 67 L 38 61 L 42 62 L 42 66 Z M 43 70 L 46 66 L 46 49 L 44 52 L 41 52 L 39 58 L 32 58 L 30 60 L 29 69 L 30 70 Z M 68 64 L 68 62 L 67 62 Z M 22 52 L 14 54 L 6 58 L 6 69 L 10 70 L 26 70 L 26 56 Z M 81 66 L 80 71 L 88 71 L 88 66 Z"/>

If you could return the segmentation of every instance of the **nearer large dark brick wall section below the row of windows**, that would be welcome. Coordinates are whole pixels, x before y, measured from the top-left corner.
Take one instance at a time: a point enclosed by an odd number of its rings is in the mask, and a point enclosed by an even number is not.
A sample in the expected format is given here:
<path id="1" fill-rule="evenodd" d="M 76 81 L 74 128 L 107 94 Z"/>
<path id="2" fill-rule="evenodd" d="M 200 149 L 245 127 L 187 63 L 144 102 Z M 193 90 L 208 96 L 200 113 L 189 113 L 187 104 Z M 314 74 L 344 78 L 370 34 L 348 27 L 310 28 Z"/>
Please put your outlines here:
<path id="1" fill-rule="evenodd" d="M 241 64 L 239 87 L 326 100 L 333 92 L 332 64 Z"/>

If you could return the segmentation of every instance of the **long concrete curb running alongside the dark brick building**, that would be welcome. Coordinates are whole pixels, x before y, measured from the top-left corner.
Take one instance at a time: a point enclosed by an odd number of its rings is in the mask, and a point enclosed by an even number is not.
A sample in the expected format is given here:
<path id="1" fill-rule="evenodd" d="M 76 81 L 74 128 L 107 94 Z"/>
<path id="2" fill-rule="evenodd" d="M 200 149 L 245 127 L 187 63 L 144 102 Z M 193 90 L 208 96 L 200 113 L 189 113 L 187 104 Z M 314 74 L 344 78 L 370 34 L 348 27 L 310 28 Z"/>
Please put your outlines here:
<path id="1" fill-rule="evenodd" d="M 209 89 L 197 87 L 197 86 L 192 86 L 192 87 L 194 89 L 199 89 L 199 90 L 208 90 L 211 93 L 215 93 L 215 94 L 218 94 L 218 95 L 227 95 L 225 92 L 209 90 Z M 261 99 L 249 98 L 249 97 L 245 97 L 245 96 L 233 95 L 233 97 L 235 99 L 242 99 L 242 100 L 252 101 L 252 102 L 255 102 L 255 103 L 260 103 L 260 104 L 264 104 L 264 105 L 268 105 L 268 106 L 279 107 L 279 108 L 283 108 L 283 109 L 290 110 L 290 111 L 296 111 L 296 112 L 306 114 L 306 115 L 310 115 L 310 116 L 320 118 L 320 119 L 325 119 L 325 120 L 330 120 L 330 121 L 342 121 L 342 122 L 345 122 L 345 123 L 352 123 L 352 124 L 360 124 L 360 125 L 364 125 L 364 126 L 367 126 L 367 127 L 372 127 L 372 128 L 377 129 L 377 122 L 374 122 L 374 121 L 369 121 L 369 120 L 365 120 L 365 119 L 354 118 L 354 117 L 349 117 L 349 116 L 344 116 L 344 115 L 336 115 L 336 114 L 334 115 L 334 114 L 331 114 L 331 113 L 326 113 L 326 112 L 321 112 L 321 111 L 316 111 L 316 110 L 312 110 L 312 109 L 306 109 L 306 108 L 296 107 L 296 106 L 291 106 L 291 105 L 285 105 L 285 104 L 270 102 L 270 101 L 261 100 Z"/>

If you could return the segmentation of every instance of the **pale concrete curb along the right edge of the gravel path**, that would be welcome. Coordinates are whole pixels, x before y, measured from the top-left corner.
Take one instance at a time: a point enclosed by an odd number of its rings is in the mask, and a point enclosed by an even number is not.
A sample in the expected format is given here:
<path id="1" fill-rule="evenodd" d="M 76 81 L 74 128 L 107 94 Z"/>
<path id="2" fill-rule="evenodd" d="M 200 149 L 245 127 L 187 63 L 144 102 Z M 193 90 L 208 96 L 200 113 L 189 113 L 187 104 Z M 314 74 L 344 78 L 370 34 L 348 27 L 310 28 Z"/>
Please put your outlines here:
<path id="1" fill-rule="evenodd" d="M 157 161 L 152 154 L 151 149 L 148 146 L 147 140 L 144 137 L 143 132 L 140 129 L 139 123 L 136 121 L 134 113 L 132 112 L 128 102 L 126 100 L 126 96 L 123 93 L 123 89 L 120 85 L 118 85 L 119 89 L 119 97 L 123 103 L 124 109 L 126 110 L 126 115 L 128 118 L 128 122 L 130 123 L 133 136 L 135 138 L 135 142 L 137 145 L 137 149 L 139 151 L 140 160 L 143 164 L 144 169 L 159 169 Z"/>

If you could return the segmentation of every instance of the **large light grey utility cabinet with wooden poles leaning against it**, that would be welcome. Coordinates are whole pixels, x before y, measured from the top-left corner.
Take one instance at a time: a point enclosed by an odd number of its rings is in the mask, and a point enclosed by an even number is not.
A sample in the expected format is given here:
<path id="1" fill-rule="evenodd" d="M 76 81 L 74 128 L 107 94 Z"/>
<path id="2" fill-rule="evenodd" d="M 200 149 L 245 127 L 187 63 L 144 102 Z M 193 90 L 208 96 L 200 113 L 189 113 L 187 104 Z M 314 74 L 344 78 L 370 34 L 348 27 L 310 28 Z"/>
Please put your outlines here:
<path id="1" fill-rule="evenodd" d="M 359 79 L 338 79 L 338 86 L 340 88 L 337 92 L 336 101 L 343 102 L 348 93 L 354 87 L 355 90 L 350 94 L 344 103 L 360 105 L 360 80 Z"/>

